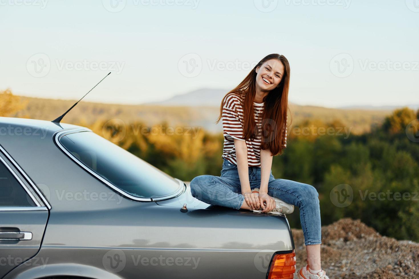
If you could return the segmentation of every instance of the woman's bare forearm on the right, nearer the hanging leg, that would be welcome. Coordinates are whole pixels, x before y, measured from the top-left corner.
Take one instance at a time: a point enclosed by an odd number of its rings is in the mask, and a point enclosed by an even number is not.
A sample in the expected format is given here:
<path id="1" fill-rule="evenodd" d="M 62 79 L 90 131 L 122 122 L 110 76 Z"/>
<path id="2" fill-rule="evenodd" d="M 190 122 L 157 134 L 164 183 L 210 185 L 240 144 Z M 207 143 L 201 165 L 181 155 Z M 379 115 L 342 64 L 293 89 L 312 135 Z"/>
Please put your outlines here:
<path id="1" fill-rule="evenodd" d="M 262 212 L 268 212 L 275 208 L 275 201 L 268 195 L 268 183 L 272 168 L 272 153 L 269 149 L 261 149 L 261 186 L 259 188 L 259 202 L 264 207 L 263 203 L 266 203 L 266 207 Z"/>

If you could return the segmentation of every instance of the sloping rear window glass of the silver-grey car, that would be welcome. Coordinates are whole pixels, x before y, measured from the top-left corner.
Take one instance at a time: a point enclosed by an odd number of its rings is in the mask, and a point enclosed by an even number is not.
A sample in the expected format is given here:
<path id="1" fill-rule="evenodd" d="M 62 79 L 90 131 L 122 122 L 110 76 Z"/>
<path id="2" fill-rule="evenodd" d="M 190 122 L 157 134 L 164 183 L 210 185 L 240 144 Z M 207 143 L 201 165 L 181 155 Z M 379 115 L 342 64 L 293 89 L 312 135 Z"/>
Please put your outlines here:
<path id="1" fill-rule="evenodd" d="M 166 197 L 181 187 L 170 175 L 91 131 L 61 136 L 59 143 L 88 169 L 134 197 Z"/>

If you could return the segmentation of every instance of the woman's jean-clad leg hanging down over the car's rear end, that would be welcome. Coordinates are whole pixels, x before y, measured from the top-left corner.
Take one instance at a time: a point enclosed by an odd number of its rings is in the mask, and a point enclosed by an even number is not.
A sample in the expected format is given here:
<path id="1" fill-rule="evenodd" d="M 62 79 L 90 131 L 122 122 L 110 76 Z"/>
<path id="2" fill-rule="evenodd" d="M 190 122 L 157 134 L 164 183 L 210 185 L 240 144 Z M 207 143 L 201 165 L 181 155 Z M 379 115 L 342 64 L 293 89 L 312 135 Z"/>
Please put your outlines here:
<path id="1" fill-rule="evenodd" d="M 316 188 L 292 180 L 272 179 L 268 183 L 268 195 L 300 208 L 300 222 L 305 238 L 308 265 L 312 270 L 321 269 L 321 220 Z"/>

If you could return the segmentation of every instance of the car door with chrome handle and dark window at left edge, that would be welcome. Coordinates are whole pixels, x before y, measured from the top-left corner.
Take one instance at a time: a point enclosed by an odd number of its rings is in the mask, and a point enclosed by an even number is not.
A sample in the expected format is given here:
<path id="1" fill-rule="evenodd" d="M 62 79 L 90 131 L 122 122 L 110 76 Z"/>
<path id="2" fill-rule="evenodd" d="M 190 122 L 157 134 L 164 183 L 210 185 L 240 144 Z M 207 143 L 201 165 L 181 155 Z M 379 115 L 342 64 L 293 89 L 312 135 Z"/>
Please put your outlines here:
<path id="1" fill-rule="evenodd" d="M 26 175 L 6 155 L 0 148 L 0 278 L 36 255 L 49 213 Z M 46 261 L 38 259 L 31 264 Z"/>

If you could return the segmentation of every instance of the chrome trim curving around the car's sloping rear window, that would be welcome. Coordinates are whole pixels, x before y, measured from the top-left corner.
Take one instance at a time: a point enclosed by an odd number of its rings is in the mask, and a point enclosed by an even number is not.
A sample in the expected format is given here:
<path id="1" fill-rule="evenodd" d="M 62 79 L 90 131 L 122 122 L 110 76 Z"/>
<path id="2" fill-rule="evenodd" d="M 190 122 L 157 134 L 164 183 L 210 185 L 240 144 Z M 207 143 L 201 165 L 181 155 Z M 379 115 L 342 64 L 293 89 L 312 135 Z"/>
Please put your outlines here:
<path id="1" fill-rule="evenodd" d="M 119 187 L 117 187 L 116 185 L 112 184 L 108 180 L 106 180 L 103 177 L 101 177 L 100 175 L 98 175 L 95 171 L 92 171 L 90 168 L 88 168 L 82 161 L 80 161 L 73 154 L 71 154 L 71 152 L 69 152 L 67 150 L 67 148 L 65 148 L 61 144 L 61 142 L 59 141 L 59 139 L 63 136 L 67 136 L 67 135 L 70 135 L 70 134 L 73 134 L 73 133 L 80 133 L 80 132 L 92 132 L 92 133 L 94 133 L 91 129 L 85 128 L 85 127 L 70 128 L 70 129 L 66 129 L 66 130 L 56 132 L 53 136 L 54 143 L 59 147 L 59 149 L 61 149 L 61 151 L 64 152 L 64 154 L 66 154 L 76 164 L 78 164 L 83 169 L 85 169 L 85 171 L 90 173 L 93 177 L 96 177 L 96 179 L 100 180 L 103 184 L 107 185 L 111 189 L 115 190 L 116 192 L 120 193 L 124 197 L 128 198 L 129 200 L 134 200 L 134 201 L 138 201 L 138 202 L 157 202 L 157 201 L 168 200 L 168 199 L 172 199 L 174 197 L 178 197 L 186 190 L 185 183 L 182 180 L 177 179 L 176 177 L 173 177 L 174 179 L 176 179 L 179 182 L 179 188 L 176 190 L 176 192 L 174 192 L 170 195 L 166 195 L 166 196 L 163 196 L 163 197 L 141 198 L 141 197 L 135 197 L 133 195 L 128 194 L 124 190 L 119 189 Z"/>

